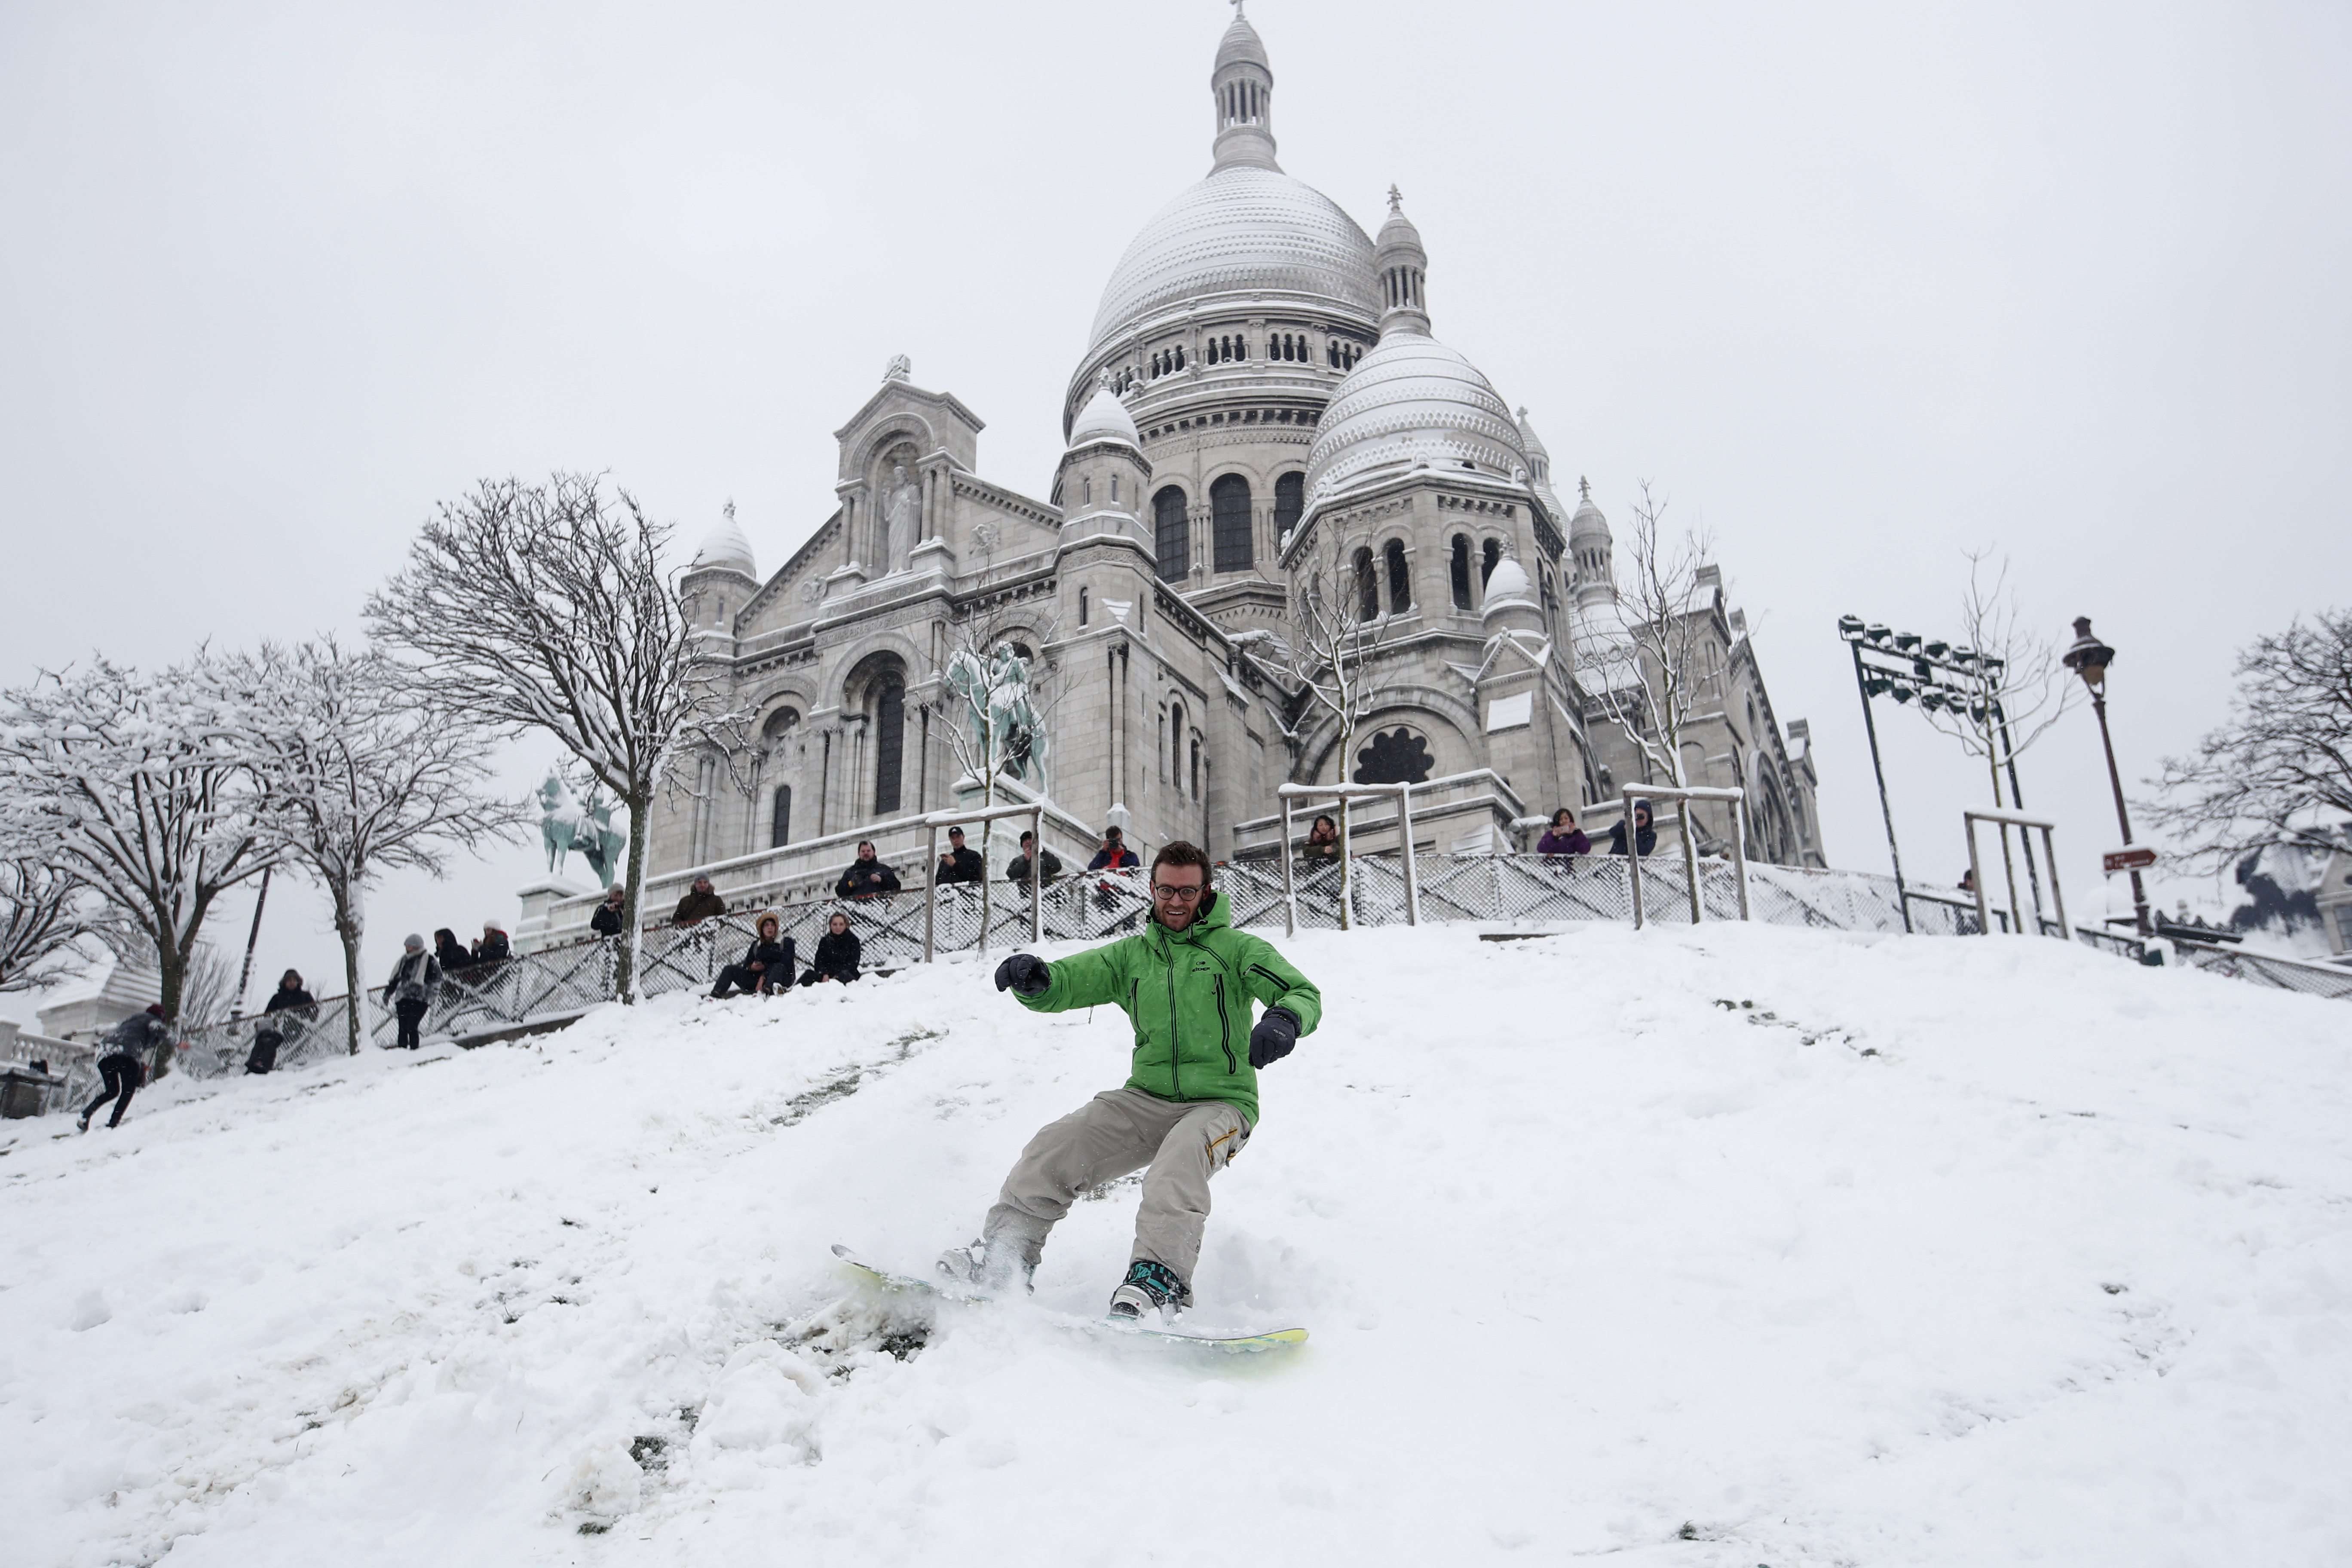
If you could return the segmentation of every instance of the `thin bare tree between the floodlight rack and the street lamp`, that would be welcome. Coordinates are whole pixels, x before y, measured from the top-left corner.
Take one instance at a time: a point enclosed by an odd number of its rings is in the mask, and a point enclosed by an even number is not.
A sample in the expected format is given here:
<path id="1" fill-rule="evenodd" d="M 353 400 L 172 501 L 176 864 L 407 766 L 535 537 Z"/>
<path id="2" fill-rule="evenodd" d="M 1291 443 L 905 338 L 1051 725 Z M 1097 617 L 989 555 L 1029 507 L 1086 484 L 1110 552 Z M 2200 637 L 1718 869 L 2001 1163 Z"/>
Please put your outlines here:
<path id="1" fill-rule="evenodd" d="M 1929 684 L 1919 691 L 1919 717 L 1933 729 L 1959 741 L 1959 750 L 1985 764 L 1992 783 L 1994 806 L 2020 806 L 2016 795 L 2016 759 L 2051 724 L 2065 717 L 2082 693 L 2072 670 L 2058 658 L 2058 642 L 2032 630 L 2032 621 L 2018 607 L 2018 595 L 2009 585 L 2009 559 L 1990 569 L 1990 550 L 1969 550 L 1969 590 L 1959 597 L 1962 644 L 1950 658 L 1969 675 L 1964 689 Z M 1900 696 L 1900 693 L 1898 693 Z M 2002 795 L 2002 771 L 2009 771 L 2009 797 Z M 2009 879 L 2009 910 L 2025 929 L 2025 905 L 2018 900 L 2018 863 L 2009 846 L 2009 825 L 2002 823 L 2002 875 Z M 2025 867 L 2034 882 L 2034 912 L 2042 910 L 2042 877 L 2032 865 L 2032 844 L 2025 844 Z"/>

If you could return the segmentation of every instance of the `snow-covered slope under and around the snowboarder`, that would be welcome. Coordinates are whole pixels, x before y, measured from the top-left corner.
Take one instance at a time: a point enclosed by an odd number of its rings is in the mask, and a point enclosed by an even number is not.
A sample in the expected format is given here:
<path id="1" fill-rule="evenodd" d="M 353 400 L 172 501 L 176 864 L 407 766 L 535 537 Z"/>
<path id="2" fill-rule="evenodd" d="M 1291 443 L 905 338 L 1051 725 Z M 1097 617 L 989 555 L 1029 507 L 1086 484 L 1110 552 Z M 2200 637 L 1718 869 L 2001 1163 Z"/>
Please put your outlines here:
<path id="1" fill-rule="evenodd" d="M 1124 1072 L 969 964 L 7 1124 L 0 1556 L 2352 1561 L 2352 1009 L 1771 926 L 1291 952 L 1324 1027 L 1195 1281 L 1279 1356 L 830 1262 L 969 1239 Z"/>

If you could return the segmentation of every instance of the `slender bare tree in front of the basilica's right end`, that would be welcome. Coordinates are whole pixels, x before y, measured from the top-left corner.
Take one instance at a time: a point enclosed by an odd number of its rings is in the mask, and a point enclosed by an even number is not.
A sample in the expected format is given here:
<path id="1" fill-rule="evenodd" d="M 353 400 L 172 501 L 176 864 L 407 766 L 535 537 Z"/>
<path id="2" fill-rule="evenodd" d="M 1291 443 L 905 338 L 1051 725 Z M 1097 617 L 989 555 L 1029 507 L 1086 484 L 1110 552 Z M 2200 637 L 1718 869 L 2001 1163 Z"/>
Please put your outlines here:
<path id="1" fill-rule="evenodd" d="M 1613 623 L 1599 618 L 1578 632 L 1576 668 L 1609 722 L 1642 752 L 1649 776 L 1689 785 L 1682 738 L 1703 712 L 1703 686 L 1715 675 L 1700 658 L 1708 646 L 1705 614 L 1715 602 L 1700 578 L 1710 541 L 1693 531 L 1670 541 L 1665 505 L 1644 480 L 1625 543 L 1616 550 L 1618 614 Z M 1630 823 L 1625 832 L 1632 832 Z"/>

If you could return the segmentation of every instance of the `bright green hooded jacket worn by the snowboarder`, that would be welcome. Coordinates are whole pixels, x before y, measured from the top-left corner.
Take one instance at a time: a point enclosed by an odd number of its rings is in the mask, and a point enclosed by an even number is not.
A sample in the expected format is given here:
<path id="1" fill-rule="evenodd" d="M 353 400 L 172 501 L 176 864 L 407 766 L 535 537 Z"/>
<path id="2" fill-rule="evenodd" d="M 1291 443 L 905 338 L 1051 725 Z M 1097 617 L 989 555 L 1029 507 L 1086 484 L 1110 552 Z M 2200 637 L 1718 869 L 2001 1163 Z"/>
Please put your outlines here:
<path id="1" fill-rule="evenodd" d="M 1136 936 L 1051 961 L 1051 985 L 1021 1006 L 1068 1013 L 1122 1006 L 1136 1027 L 1129 1088 L 1162 1100 L 1225 1100 L 1258 1124 L 1258 1070 L 1249 1065 L 1249 999 L 1279 1006 L 1312 1034 L 1322 992 L 1265 938 L 1235 931 L 1225 898 L 1209 891 L 1183 931 L 1152 917 Z M 1016 992 L 1018 994 L 1018 992 Z"/>

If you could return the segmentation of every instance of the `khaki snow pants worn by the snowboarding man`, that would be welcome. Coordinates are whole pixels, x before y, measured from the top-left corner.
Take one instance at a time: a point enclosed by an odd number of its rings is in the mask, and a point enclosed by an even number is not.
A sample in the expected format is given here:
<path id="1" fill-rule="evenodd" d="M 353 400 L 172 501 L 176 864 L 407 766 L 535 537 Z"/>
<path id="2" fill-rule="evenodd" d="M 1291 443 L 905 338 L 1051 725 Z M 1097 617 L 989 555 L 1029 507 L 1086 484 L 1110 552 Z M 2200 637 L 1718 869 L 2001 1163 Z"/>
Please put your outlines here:
<path id="1" fill-rule="evenodd" d="M 1209 1222 L 1209 1178 L 1249 1143 L 1249 1121 L 1223 1100 L 1162 1100 L 1141 1088 L 1105 1088 L 1082 1107 L 1037 1128 L 983 1237 L 1011 1239 L 1030 1267 L 1044 1237 L 1087 1187 L 1143 1171 L 1134 1260 L 1164 1262 L 1190 1281 L 1200 1232 Z M 1145 1168 L 1148 1166 L 1148 1168 Z"/>

